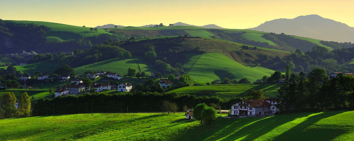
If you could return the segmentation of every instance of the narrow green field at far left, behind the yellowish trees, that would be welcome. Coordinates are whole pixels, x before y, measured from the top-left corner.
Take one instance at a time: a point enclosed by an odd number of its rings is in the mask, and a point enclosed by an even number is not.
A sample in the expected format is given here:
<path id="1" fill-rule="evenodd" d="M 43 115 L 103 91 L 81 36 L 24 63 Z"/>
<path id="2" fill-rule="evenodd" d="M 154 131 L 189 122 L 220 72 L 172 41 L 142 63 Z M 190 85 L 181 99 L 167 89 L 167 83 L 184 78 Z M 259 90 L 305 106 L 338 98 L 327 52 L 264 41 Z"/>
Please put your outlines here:
<path id="1" fill-rule="evenodd" d="M 27 92 L 27 94 L 30 96 L 31 100 L 38 100 L 39 98 L 44 98 L 44 97 L 50 96 L 49 91 L 31 91 L 31 90 L 28 90 L 28 91 L 1 90 L 0 96 L 2 96 L 5 92 L 13 92 L 13 94 L 15 94 L 17 100 L 20 99 L 23 92 Z M 34 99 L 32 99 L 32 96 L 34 97 Z"/>

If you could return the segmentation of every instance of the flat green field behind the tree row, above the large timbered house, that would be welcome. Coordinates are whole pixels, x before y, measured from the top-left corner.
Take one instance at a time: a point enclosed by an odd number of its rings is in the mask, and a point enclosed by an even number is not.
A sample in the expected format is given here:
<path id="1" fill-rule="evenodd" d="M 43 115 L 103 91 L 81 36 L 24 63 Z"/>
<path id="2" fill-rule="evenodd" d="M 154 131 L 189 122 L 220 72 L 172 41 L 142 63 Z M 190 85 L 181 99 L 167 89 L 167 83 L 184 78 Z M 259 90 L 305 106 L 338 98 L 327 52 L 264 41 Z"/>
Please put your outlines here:
<path id="1" fill-rule="evenodd" d="M 190 94 L 196 96 L 218 96 L 221 98 L 244 97 L 250 90 L 263 90 L 264 96 L 276 97 L 280 85 L 209 85 L 209 86 L 187 86 L 169 92 L 178 94 Z"/>

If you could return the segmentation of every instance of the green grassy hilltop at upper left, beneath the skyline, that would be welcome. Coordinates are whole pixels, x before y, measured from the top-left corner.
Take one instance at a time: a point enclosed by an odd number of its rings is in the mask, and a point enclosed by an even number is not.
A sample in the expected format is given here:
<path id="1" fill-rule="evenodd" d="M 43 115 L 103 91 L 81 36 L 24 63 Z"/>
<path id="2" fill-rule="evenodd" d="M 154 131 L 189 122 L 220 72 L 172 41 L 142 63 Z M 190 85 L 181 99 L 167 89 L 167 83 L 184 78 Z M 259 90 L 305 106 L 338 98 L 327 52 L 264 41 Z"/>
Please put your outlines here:
<path id="1" fill-rule="evenodd" d="M 104 29 L 98 28 L 98 31 L 90 31 L 90 27 L 81 27 L 73 25 L 65 25 L 59 23 L 50 23 L 45 21 L 13 21 L 15 23 L 23 24 L 35 24 L 35 25 L 44 25 L 48 27 L 47 38 L 58 39 L 60 41 L 70 40 L 70 39 L 79 39 L 81 37 L 90 37 L 97 34 L 111 34 L 105 32 Z"/>

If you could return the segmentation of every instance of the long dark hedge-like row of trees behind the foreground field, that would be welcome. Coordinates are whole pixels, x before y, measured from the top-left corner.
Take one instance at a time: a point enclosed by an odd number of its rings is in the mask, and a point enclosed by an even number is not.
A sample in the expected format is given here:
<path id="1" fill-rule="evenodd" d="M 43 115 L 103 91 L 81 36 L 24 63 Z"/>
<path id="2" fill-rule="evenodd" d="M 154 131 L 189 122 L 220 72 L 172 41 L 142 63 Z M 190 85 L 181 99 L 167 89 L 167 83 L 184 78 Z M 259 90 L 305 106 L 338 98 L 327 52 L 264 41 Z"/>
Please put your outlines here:
<path id="1" fill-rule="evenodd" d="M 195 95 L 159 92 L 98 93 L 40 99 L 33 107 L 33 115 L 76 114 L 91 112 L 91 110 L 94 113 L 158 112 L 166 111 L 161 107 L 164 101 L 176 103 L 178 111 L 182 111 L 183 107 L 195 107 L 199 103 L 229 107 L 239 100 L 240 98 L 223 100 L 219 97 L 197 97 Z M 55 113 L 53 113 L 53 108 Z"/>

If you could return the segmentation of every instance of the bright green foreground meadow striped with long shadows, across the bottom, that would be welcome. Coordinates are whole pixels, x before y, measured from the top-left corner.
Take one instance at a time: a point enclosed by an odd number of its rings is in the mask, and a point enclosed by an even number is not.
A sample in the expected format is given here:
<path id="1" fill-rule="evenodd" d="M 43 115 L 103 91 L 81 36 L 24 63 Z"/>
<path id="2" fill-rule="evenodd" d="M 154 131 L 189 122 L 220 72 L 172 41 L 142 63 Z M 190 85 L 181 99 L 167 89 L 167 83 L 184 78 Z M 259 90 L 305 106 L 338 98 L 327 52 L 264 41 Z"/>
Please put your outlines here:
<path id="1" fill-rule="evenodd" d="M 354 140 L 354 111 L 218 118 L 210 125 L 184 119 L 183 114 L 147 115 L 75 114 L 5 119 L 0 120 L 0 140 Z M 121 121 L 129 117 L 137 118 Z"/>

